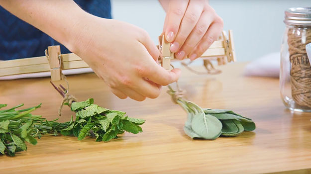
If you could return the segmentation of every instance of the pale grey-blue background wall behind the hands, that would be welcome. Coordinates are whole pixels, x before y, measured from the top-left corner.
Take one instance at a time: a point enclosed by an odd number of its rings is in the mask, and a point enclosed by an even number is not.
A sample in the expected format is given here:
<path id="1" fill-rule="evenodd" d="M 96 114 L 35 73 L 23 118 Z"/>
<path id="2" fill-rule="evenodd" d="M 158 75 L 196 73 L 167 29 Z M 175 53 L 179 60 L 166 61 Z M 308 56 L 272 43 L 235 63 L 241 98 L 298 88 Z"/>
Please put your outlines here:
<path id="1" fill-rule="evenodd" d="M 133 23 L 149 32 L 157 44 L 165 12 L 158 0 L 111 0 L 114 19 Z M 232 29 L 238 61 L 251 61 L 279 51 L 284 31 L 284 10 L 311 6 L 311 0 L 209 0 Z"/>

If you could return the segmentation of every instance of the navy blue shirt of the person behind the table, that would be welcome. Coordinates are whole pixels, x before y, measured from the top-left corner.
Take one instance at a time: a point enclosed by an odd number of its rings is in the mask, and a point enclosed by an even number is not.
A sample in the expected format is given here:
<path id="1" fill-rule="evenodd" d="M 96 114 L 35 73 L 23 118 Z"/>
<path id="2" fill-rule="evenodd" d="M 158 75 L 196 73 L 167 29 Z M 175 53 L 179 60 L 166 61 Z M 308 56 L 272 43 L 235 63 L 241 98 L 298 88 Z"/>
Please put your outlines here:
<path id="1" fill-rule="evenodd" d="M 93 15 L 111 18 L 110 0 L 75 2 Z M 0 60 L 44 56 L 44 50 L 51 45 L 61 45 L 62 53 L 70 53 L 65 46 L 0 6 Z"/>

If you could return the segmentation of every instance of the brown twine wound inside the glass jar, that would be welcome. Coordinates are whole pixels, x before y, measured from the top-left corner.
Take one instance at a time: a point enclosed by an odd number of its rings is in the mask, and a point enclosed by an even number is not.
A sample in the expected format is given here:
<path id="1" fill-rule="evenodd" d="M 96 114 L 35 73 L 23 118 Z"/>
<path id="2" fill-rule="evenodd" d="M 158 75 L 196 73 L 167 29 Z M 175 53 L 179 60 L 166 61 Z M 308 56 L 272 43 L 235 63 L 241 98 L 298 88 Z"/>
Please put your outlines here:
<path id="1" fill-rule="evenodd" d="M 311 107 L 311 66 L 306 53 L 308 43 L 311 43 L 311 28 L 288 30 L 292 97 L 297 104 Z"/>

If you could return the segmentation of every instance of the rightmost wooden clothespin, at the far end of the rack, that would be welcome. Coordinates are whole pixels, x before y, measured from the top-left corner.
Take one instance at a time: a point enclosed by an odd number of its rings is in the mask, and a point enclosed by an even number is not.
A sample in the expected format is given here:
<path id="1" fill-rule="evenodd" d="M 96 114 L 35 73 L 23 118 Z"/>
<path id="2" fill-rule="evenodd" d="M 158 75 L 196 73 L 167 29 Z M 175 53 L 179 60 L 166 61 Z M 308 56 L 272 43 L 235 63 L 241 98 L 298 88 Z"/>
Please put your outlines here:
<path id="1" fill-rule="evenodd" d="M 233 42 L 233 33 L 232 30 L 229 30 L 229 39 L 227 39 L 225 31 L 222 31 L 222 38 L 223 38 L 223 45 L 225 54 L 227 57 L 228 62 L 235 62 L 236 56 L 235 56 L 235 48 L 234 48 L 234 42 Z"/>

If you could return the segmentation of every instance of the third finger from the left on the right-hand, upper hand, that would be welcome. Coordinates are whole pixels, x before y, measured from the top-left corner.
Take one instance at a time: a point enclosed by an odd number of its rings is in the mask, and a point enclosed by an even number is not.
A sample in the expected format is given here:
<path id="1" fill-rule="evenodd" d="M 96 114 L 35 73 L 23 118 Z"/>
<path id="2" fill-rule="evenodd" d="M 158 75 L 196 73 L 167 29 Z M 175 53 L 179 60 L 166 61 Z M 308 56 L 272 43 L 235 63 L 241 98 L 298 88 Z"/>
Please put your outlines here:
<path id="1" fill-rule="evenodd" d="M 204 34 L 207 32 L 207 29 L 209 27 L 209 25 L 212 23 L 212 21 L 214 20 L 212 15 L 211 10 L 204 10 L 198 23 L 196 24 L 195 28 L 192 30 L 192 32 L 190 33 L 190 35 L 188 36 L 187 40 L 185 41 L 185 43 L 183 44 L 183 46 L 181 47 L 180 50 L 185 52 L 185 56 L 188 55 L 188 57 L 191 60 L 194 60 L 197 58 L 196 54 L 192 54 L 189 55 L 194 48 L 196 47 L 196 45 L 200 42 L 200 40 L 203 38 Z M 177 57 L 177 58 L 181 58 L 182 57 Z M 185 57 L 183 57 L 185 58 Z"/>

